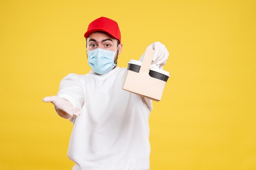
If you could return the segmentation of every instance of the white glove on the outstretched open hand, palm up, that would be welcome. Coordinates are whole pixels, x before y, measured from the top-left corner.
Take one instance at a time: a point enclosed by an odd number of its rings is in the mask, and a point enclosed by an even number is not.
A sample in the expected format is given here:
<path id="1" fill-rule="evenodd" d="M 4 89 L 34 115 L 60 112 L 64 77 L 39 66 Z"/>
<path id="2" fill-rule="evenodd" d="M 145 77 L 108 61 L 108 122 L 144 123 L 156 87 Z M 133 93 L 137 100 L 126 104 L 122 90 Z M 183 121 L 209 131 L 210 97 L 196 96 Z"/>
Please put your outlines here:
<path id="1" fill-rule="evenodd" d="M 74 107 L 71 102 L 64 98 L 60 98 L 58 96 L 49 96 L 43 98 L 43 101 L 54 104 L 56 112 L 62 118 L 68 119 L 71 116 L 79 116 L 82 114 L 80 109 Z"/>

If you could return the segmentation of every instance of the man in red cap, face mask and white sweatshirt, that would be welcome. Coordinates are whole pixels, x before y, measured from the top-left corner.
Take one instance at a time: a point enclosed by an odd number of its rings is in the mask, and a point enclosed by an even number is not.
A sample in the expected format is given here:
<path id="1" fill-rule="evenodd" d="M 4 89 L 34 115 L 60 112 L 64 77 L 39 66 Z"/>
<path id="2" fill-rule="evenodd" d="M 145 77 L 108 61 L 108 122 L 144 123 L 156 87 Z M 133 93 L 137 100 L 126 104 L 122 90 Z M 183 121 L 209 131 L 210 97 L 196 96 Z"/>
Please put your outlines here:
<path id="1" fill-rule="evenodd" d="M 152 101 L 121 89 L 126 68 L 116 65 L 123 48 L 119 26 L 100 17 L 89 24 L 84 36 L 92 70 L 68 74 L 57 96 L 43 99 L 74 124 L 68 150 L 75 162 L 73 170 L 149 170 Z M 163 44 L 148 48 L 155 50 L 153 63 L 166 63 Z"/>

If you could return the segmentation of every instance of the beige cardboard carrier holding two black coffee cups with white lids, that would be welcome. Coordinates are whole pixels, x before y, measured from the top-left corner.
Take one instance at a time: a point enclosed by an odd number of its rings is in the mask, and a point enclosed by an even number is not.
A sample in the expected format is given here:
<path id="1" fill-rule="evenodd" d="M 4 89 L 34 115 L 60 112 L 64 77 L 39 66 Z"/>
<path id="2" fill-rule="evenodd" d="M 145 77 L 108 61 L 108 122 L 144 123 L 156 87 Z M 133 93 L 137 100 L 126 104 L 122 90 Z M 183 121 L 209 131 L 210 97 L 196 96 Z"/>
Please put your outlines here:
<path id="1" fill-rule="evenodd" d="M 150 68 L 154 52 L 155 50 L 147 48 L 142 63 L 136 60 L 128 63 L 122 89 L 160 101 L 170 75 L 158 67 Z"/>

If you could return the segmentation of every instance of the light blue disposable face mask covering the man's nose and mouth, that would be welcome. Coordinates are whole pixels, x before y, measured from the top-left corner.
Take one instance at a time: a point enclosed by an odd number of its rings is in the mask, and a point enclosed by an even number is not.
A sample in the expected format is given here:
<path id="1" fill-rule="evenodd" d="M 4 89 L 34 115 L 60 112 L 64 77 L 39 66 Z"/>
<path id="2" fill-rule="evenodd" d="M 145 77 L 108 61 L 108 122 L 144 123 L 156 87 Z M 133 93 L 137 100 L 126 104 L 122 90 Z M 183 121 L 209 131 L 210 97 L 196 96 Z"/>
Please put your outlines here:
<path id="1" fill-rule="evenodd" d="M 120 45 L 120 44 L 119 44 Z M 119 48 L 119 45 L 117 49 Z M 88 64 L 98 74 L 105 74 L 116 66 L 114 63 L 115 52 L 110 50 L 103 50 L 96 48 L 95 50 L 88 51 Z"/>

